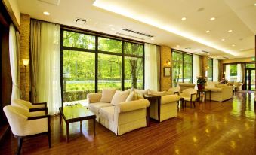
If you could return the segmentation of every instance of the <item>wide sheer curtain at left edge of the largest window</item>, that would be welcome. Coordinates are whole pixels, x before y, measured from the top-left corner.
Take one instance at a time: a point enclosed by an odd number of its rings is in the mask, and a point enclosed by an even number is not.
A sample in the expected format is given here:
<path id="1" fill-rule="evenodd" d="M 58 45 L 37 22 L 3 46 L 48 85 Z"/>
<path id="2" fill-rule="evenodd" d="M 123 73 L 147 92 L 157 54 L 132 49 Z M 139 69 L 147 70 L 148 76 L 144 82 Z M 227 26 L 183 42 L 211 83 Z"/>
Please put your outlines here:
<path id="1" fill-rule="evenodd" d="M 49 114 L 61 106 L 60 90 L 60 25 L 41 23 L 41 50 L 36 90 L 39 102 L 48 102 Z"/>

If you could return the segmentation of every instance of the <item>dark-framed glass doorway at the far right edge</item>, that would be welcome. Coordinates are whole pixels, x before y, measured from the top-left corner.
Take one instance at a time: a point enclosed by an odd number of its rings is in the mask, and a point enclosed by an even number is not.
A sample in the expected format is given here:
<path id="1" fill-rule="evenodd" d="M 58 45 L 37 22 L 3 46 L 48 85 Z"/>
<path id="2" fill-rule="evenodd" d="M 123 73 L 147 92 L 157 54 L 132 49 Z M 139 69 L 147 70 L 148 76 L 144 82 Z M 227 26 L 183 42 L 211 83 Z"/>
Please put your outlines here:
<path id="1" fill-rule="evenodd" d="M 245 68 L 245 90 L 255 90 L 255 68 Z"/>

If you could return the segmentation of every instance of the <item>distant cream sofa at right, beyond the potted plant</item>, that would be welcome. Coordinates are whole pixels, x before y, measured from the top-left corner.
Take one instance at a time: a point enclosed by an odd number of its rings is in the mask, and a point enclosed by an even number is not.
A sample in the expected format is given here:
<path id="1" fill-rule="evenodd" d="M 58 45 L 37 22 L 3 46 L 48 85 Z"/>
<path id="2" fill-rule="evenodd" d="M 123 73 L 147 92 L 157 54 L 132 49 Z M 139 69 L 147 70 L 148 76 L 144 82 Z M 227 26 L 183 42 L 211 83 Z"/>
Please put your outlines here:
<path id="1" fill-rule="evenodd" d="M 211 90 L 211 100 L 217 102 L 224 102 L 227 99 L 233 98 L 233 86 L 218 84 L 218 82 L 208 81 L 205 90 Z M 206 96 L 210 99 L 210 96 Z"/>

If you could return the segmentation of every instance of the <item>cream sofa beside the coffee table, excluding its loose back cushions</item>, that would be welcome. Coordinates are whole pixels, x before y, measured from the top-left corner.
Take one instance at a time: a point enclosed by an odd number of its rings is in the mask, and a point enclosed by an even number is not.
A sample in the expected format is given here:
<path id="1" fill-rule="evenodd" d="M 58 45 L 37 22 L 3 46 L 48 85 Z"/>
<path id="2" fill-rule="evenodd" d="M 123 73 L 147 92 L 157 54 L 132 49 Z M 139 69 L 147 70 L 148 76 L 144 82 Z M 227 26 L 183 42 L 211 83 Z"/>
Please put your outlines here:
<path id="1" fill-rule="evenodd" d="M 88 94 L 88 108 L 97 116 L 97 121 L 116 135 L 147 126 L 147 99 L 138 97 L 131 102 L 100 102 L 102 93 Z"/>

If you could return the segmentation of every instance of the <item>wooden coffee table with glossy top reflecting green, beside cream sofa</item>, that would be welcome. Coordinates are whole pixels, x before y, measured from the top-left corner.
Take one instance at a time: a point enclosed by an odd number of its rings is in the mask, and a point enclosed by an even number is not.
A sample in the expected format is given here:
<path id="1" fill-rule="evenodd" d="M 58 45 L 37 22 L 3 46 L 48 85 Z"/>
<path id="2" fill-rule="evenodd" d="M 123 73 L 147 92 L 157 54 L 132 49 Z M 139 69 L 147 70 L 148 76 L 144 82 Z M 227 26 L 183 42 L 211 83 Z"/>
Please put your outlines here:
<path id="1" fill-rule="evenodd" d="M 94 120 L 94 135 L 95 135 L 95 119 L 96 115 L 88 108 L 82 105 L 71 105 L 60 107 L 60 124 L 61 117 L 66 122 L 66 142 L 69 142 L 69 123 L 80 121 L 80 132 L 82 132 L 82 120 Z"/>

